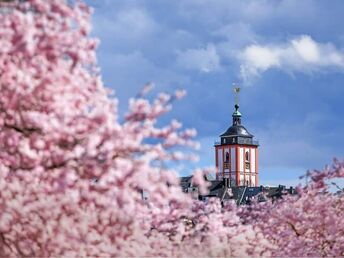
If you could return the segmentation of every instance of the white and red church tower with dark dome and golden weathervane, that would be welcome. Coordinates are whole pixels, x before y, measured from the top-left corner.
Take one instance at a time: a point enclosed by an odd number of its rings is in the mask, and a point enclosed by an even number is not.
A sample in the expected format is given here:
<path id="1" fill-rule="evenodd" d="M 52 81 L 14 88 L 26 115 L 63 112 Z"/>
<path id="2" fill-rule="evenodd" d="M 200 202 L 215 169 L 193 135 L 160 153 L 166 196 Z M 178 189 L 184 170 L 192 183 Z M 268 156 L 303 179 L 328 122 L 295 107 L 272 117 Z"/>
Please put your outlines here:
<path id="1" fill-rule="evenodd" d="M 220 142 L 215 143 L 216 179 L 229 179 L 230 186 L 258 186 L 258 141 L 241 124 L 238 94 L 236 95 L 233 123 L 220 135 Z"/>

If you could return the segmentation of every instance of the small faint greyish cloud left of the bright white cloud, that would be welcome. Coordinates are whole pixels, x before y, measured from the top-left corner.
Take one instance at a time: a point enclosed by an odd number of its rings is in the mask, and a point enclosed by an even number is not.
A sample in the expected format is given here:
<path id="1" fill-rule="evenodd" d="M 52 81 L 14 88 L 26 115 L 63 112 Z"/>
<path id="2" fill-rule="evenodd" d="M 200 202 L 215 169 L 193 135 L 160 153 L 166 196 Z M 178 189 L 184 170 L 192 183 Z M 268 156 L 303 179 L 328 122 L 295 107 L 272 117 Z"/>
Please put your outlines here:
<path id="1" fill-rule="evenodd" d="M 177 64 L 189 70 L 212 72 L 220 69 L 220 57 L 214 45 L 178 52 Z"/>

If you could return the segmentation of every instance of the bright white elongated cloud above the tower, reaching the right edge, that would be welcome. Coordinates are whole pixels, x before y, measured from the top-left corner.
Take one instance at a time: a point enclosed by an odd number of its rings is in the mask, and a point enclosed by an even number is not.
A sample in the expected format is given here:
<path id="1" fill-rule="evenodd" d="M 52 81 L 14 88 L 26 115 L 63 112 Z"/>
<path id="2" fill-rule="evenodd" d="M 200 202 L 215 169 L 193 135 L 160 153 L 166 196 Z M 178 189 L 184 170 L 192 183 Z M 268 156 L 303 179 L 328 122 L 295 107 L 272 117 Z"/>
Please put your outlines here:
<path id="1" fill-rule="evenodd" d="M 344 53 L 331 43 L 319 43 L 308 35 L 277 45 L 252 44 L 238 54 L 241 77 L 247 83 L 268 69 L 312 73 L 344 70 Z"/>

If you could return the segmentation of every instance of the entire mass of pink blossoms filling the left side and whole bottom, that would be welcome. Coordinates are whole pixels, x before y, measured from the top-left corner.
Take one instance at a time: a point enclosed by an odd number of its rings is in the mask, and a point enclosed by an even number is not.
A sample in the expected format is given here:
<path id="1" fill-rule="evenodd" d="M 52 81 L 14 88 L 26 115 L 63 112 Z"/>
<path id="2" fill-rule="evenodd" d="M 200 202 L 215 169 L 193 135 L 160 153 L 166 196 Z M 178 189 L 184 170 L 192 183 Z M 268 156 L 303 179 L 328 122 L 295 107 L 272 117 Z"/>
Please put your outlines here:
<path id="1" fill-rule="evenodd" d="M 0 256 L 344 255 L 343 195 L 325 183 L 343 162 L 280 201 L 193 200 L 168 164 L 194 158 L 180 150 L 196 132 L 157 125 L 185 92 L 148 101 L 147 84 L 120 123 L 89 17 L 80 2 L 0 3 Z"/>

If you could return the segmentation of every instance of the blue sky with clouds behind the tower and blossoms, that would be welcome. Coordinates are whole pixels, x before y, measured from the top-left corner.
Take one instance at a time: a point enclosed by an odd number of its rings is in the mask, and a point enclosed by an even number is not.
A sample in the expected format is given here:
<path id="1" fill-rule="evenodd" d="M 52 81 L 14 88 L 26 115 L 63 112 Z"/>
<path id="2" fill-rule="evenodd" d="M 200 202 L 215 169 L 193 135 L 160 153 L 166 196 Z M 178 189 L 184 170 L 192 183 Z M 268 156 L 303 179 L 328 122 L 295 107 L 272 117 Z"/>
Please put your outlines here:
<path id="1" fill-rule="evenodd" d="M 232 83 L 243 124 L 260 141 L 260 183 L 298 182 L 344 154 L 344 1 L 87 0 L 99 65 L 120 111 L 148 81 L 184 88 L 166 121 L 198 131 L 200 162 L 231 124 Z"/>

